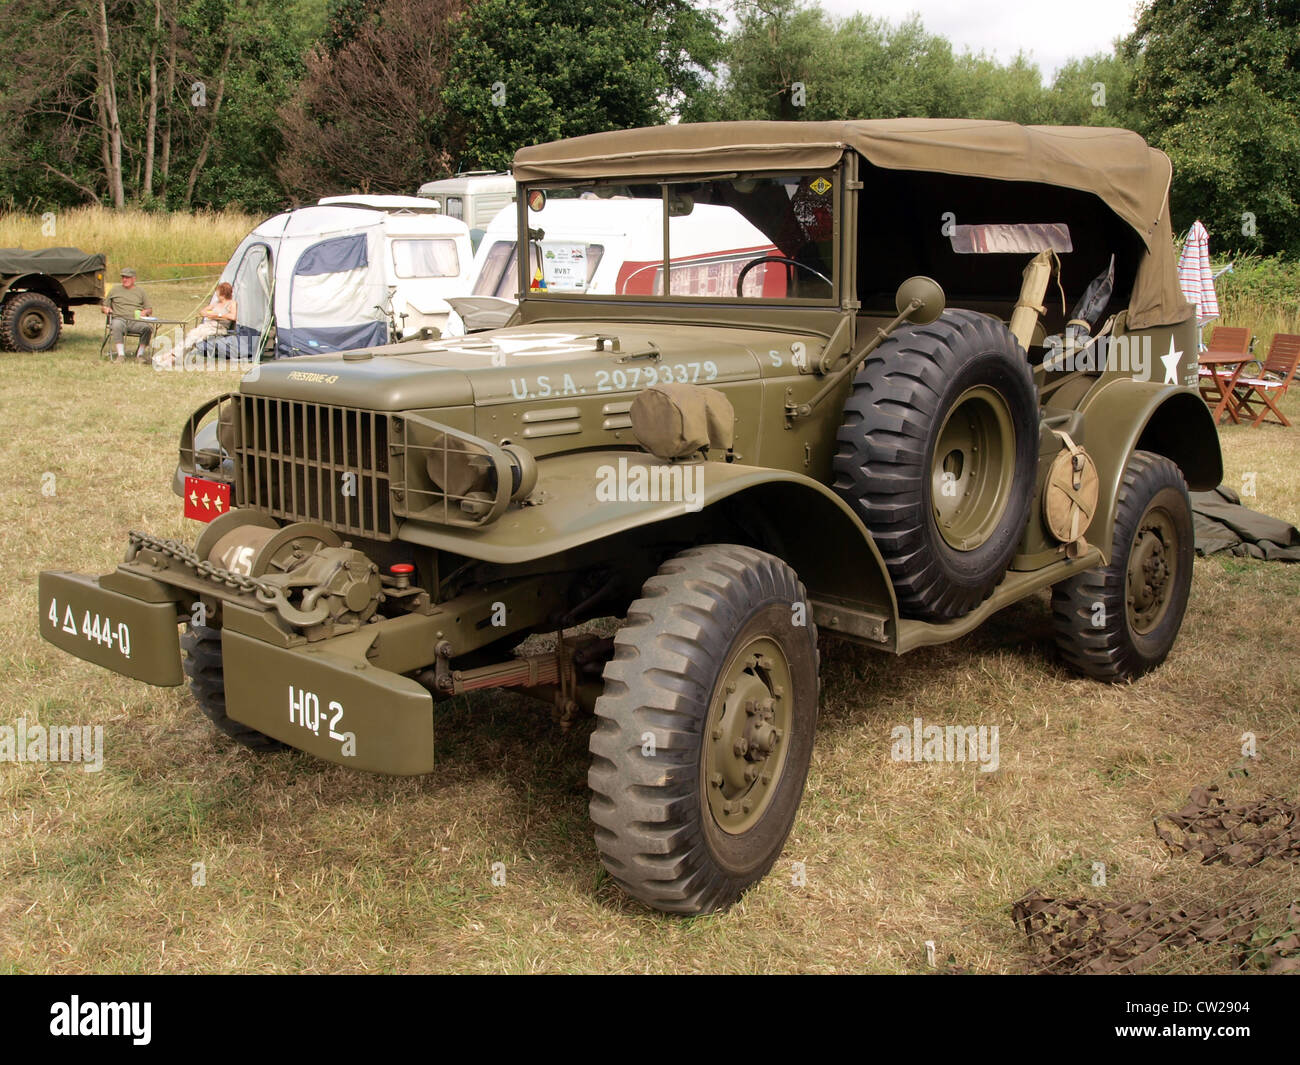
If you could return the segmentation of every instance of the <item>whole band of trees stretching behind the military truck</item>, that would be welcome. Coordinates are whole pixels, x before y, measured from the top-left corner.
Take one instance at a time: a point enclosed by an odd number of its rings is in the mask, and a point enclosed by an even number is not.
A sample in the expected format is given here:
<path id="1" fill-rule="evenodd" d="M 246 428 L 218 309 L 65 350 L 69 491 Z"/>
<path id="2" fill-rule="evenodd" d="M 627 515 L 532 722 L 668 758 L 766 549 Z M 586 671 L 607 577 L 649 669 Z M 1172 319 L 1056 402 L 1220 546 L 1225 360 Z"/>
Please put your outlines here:
<path id="1" fill-rule="evenodd" d="M 736 0 L 724 35 L 710 7 L 107 0 L 125 199 L 265 212 L 326 191 L 412 191 L 508 166 L 524 144 L 673 118 L 970 117 L 1135 129 L 1174 163 L 1176 229 L 1200 217 L 1216 252 L 1300 256 L 1297 0 L 1147 0 L 1128 38 L 1050 85 L 1023 55 L 954 55 L 918 17 Z M 0 7 L 0 205 L 110 200 L 98 10 Z M 151 62 L 174 88 L 159 88 L 146 187 Z M 190 101 L 200 81 L 205 109 Z"/>

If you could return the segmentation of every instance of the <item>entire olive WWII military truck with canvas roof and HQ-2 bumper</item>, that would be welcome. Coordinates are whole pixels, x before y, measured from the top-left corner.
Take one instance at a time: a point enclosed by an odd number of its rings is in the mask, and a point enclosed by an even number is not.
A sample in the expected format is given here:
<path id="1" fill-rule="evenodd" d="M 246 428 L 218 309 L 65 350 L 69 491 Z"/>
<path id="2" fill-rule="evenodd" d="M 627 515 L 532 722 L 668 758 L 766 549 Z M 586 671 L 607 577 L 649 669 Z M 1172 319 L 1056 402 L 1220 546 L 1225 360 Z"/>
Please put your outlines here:
<path id="1" fill-rule="evenodd" d="M 1070 668 L 1169 654 L 1188 486 L 1222 462 L 1169 160 L 1136 134 L 679 125 L 514 173 L 506 326 L 257 367 L 182 429 L 196 542 L 131 532 L 112 573 L 42 573 L 43 635 L 188 680 L 251 748 L 372 772 L 433 771 L 450 696 L 594 713 L 595 849 L 675 913 L 779 857 L 819 635 L 904 654 L 1050 589 Z M 660 239 L 597 294 L 547 205 L 607 198 L 656 204 Z M 748 261 L 724 231 L 675 250 L 723 209 L 760 234 Z M 554 645 L 516 653 L 533 633 Z"/>

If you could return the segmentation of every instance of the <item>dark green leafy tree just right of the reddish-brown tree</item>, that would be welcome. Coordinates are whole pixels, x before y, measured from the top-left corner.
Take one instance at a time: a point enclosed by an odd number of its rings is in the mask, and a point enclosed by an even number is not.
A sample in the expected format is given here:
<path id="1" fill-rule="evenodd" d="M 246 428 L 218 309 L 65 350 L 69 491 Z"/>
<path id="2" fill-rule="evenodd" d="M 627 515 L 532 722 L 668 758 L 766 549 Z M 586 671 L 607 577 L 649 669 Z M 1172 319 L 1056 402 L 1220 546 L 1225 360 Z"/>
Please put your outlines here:
<path id="1" fill-rule="evenodd" d="M 510 166 L 524 144 L 668 121 L 720 49 L 689 0 L 480 0 L 464 16 L 443 104 L 462 166 Z"/>

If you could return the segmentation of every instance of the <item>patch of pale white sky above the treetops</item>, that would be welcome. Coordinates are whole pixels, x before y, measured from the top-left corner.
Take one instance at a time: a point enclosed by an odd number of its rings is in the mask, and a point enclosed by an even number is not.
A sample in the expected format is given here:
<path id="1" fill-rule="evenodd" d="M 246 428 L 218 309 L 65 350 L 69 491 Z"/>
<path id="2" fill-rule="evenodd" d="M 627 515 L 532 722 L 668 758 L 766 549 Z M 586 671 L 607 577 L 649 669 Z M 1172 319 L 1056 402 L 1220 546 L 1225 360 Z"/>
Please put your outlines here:
<path id="1" fill-rule="evenodd" d="M 1138 0 L 820 0 L 832 16 L 867 14 L 901 22 L 916 13 L 956 52 L 987 52 L 1005 62 L 1031 53 L 1052 79 L 1070 59 L 1109 52 L 1134 27 Z"/>

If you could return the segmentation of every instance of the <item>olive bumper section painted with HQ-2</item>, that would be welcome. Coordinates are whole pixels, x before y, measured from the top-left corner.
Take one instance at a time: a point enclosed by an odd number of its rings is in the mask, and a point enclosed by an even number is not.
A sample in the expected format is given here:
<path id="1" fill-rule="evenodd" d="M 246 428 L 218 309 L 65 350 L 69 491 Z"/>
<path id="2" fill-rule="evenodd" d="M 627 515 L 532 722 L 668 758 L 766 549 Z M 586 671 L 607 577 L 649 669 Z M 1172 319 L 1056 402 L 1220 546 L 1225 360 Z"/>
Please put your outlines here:
<path id="1" fill-rule="evenodd" d="M 433 770 L 433 697 L 400 674 L 221 632 L 226 713 L 329 762 L 407 776 Z"/>

